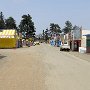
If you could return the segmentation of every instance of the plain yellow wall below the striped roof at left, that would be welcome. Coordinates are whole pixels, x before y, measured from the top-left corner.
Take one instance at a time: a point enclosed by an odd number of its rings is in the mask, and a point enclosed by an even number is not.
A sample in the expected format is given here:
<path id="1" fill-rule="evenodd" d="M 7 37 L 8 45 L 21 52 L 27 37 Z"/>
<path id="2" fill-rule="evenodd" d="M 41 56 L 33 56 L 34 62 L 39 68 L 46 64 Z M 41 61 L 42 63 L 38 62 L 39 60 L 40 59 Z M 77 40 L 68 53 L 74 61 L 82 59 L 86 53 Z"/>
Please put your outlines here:
<path id="1" fill-rule="evenodd" d="M 0 38 L 0 48 L 15 48 L 16 38 Z"/>

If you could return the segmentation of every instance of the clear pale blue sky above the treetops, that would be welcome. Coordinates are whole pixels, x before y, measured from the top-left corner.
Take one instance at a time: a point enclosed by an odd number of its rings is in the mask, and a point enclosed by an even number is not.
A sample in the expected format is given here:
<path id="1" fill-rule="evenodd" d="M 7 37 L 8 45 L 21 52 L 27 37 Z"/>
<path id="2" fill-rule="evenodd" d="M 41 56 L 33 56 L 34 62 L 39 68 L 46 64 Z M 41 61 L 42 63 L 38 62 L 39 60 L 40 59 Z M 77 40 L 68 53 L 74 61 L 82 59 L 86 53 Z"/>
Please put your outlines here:
<path id="1" fill-rule="evenodd" d="M 67 20 L 90 29 L 90 0 L 0 0 L 0 11 L 5 18 L 12 16 L 17 25 L 22 15 L 30 14 L 36 34 L 49 29 L 50 23 L 64 28 Z"/>

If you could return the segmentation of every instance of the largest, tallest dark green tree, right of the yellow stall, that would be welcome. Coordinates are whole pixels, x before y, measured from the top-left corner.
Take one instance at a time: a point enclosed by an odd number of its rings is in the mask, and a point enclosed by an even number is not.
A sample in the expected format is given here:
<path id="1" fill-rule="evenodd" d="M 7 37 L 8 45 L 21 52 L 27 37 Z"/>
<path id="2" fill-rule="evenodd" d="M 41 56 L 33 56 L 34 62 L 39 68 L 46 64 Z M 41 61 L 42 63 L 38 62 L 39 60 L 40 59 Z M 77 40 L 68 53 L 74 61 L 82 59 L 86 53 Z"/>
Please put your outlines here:
<path id="1" fill-rule="evenodd" d="M 23 15 L 22 20 L 19 25 L 19 31 L 23 34 L 24 38 L 30 38 L 35 36 L 34 22 L 32 22 L 32 17 L 28 15 Z"/>

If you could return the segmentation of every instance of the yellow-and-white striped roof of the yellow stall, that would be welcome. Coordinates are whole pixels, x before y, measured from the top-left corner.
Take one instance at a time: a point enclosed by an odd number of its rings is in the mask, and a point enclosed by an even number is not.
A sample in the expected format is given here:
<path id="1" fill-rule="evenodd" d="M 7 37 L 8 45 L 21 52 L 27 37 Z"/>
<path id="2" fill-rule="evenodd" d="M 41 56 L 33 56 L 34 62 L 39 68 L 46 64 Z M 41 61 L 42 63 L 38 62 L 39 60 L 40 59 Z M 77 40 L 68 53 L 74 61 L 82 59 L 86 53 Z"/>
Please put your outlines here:
<path id="1" fill-rule="evenodd" d="M 14 29 L 6 29 L 0 31 L 0 38 L 14 38 L 14 35 L 16 34 L 16 30 Z"/>

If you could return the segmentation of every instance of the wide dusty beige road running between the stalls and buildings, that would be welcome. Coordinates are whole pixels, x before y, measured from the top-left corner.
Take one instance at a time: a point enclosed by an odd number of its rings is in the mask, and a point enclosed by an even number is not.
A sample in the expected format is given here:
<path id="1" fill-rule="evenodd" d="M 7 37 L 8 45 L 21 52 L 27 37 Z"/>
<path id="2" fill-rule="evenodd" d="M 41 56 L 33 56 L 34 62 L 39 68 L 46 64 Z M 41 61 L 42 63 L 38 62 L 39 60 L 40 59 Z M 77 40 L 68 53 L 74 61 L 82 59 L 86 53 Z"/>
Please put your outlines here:
<path id="1" fill-rule="evenodd" d="M 0 90 L 90 90 L 90 62 L 56 47 L 0 52 Z"/>

